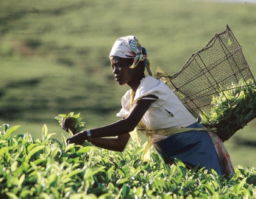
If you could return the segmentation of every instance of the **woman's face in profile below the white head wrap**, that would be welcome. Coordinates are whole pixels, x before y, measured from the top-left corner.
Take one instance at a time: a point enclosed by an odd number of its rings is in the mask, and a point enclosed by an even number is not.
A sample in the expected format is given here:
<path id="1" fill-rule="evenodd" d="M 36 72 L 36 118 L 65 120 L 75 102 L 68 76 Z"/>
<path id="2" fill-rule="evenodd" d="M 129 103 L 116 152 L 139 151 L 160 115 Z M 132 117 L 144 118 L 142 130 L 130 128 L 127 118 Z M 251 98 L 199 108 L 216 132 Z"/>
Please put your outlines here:
<path id="1" fill-rule="evenodd" d="M 115 75 L 115 81 L 119 85 L 129 84 L 136 76 L 136 69 L 129 68 L 132 65 L 133 59 L 110 57 L 110 62 Z"/>

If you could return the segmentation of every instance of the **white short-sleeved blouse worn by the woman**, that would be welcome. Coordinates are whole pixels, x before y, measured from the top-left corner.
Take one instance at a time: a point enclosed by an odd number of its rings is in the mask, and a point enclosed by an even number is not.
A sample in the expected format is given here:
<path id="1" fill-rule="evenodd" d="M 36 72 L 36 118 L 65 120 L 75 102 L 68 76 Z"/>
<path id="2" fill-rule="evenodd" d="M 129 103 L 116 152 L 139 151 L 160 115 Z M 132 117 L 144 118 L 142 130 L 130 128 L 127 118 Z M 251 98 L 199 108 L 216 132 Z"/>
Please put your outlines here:
<path id="1" fill-rule="evenodd" d="M 157 96 L 157 100 L 151 104 L 141 119 L 147 129 L 181 128 L 196 122 L 196 118 L 191 115 L 182 101 L 162 80 L 152 76 L 143 78 L 135 93 L 133 103 L 135 104 L 136 101 L 141 100 L 146 95 Z M 127 117 L 130 109 L 130 90 L 121 98 L 121 106 L 122 109 L 117 113 L 117 116 Z"/>

